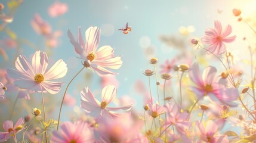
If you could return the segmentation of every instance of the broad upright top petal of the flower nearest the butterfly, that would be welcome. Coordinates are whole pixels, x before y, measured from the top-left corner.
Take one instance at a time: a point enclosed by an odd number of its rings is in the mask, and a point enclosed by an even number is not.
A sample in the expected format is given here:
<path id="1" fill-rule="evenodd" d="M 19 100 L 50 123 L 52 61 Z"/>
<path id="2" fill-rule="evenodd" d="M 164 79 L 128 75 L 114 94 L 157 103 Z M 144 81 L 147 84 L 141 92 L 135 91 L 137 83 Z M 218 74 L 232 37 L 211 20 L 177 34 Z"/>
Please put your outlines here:
<path id="1" fill-rule="evenodd" d="M 100 42 L 100 29 L 98 27 L 89 27 L 85 32 L 87 54 L 95 52 Z"/>

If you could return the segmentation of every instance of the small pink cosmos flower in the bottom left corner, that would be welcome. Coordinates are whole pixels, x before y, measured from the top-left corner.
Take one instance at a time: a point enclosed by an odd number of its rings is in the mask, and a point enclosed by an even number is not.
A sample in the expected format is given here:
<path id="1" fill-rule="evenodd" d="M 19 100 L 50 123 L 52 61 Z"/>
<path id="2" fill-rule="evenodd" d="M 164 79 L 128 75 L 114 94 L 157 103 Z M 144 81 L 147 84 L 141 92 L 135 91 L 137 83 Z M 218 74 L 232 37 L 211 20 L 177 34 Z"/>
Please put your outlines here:
<path id="1" fill-rule="evenodd" d="M 3 123 L 3 128 L 5 132 L 0 132 L 0 142 L 7 141 L 11 136 L 23 130 L 24 119 L 19 118 L 16 124 L 13 126 L 13 121 L 7 120 Z"/>

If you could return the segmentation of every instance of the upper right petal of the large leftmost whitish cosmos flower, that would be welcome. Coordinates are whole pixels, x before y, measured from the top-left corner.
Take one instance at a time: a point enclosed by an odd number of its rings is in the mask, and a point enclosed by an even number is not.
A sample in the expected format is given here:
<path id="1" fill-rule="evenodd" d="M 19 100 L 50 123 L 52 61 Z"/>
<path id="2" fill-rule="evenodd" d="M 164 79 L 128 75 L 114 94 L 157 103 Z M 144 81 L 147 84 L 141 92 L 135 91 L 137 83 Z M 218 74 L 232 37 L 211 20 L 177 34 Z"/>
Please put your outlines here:
<path id="1" fill-rule="evenodd" d="M 67 73 L 67 64 L 62 60 L 58 60 L 50 70 L 48 70 L 45 74 L 45 80 L 51 79 L 59 79 L 65 76 Z"/>

